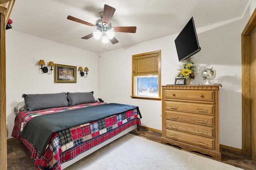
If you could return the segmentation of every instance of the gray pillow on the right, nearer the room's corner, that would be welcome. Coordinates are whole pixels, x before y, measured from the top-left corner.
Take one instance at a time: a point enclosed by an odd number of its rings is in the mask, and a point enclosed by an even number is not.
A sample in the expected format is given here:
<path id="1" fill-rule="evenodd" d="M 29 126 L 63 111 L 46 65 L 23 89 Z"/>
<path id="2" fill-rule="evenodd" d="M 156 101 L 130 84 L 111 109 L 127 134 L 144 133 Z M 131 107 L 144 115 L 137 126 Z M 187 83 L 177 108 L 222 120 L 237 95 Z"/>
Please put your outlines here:
<path id="1" fill-rule="evenodd" d="M 71 106 L 96 102 L 92 92 L 67 92 L 67 97 Z"/>

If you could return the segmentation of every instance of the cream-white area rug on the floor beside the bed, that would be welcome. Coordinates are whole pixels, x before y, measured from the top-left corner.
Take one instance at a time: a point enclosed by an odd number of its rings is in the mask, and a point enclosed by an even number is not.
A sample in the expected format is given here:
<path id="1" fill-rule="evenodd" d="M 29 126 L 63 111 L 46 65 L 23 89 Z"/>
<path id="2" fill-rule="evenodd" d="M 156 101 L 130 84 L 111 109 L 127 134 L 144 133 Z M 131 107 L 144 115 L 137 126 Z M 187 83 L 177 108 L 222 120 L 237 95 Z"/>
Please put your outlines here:
<path id="1" fill-rule="evenodd" d="M 64 170 L 241 170 L 241 168 L 128 133 Z"/>

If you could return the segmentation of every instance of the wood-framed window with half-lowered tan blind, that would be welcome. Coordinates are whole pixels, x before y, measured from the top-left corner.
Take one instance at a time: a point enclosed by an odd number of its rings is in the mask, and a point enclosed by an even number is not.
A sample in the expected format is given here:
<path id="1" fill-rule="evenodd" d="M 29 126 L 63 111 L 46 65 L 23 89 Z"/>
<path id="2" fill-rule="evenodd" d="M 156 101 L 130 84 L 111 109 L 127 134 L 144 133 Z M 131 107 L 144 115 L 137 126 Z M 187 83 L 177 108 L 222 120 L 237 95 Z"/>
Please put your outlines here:
<path id="1" fill-rule="evenodd" d="M 132 98 L 161 100 L 161 50 L 132 55 Z"/>

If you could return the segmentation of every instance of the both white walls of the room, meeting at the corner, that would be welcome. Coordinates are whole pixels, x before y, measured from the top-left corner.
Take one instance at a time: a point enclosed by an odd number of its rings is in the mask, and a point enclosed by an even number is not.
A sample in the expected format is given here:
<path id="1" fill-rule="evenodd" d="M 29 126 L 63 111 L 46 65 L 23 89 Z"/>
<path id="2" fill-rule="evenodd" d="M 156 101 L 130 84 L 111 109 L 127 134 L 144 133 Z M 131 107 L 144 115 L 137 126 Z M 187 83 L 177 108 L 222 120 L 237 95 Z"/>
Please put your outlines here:
<path id="1" fill-rule="evenodd" d="M 242 66 L 241 33 L 250 18 L 225 21 L 197 29 L 202 50 L 192 57 L 198 63 L 198 75 L 192 83 L 204 83 L 200 72 L 213 67 L 220 88 L 220 144 L 242 148 Z M 196 23 L 195 23 L 196 24 Z M 174 44 L 177 35 L 170 35 L 130 47 L 98 54 L 77 49 L 14 30 L 6 31 L 6 112 L 7 125 L 14 124 L 13 108 L 22 94 L 94 91 L 105 102 L 132 104 L 140 107 L 142 125 L 162 130 L 161 101 L 132 99 L 132 55 L 161 50 L 162 85 L 174 84 L 178 57 Z M 88 78 L 77 84 L 54 84 L 53 74 L 41 74 L 38 60 L 46 63 L 87 66 Z M 99 65 L 98 65 L 99 64 Z M 17 74 L 18 72 L 18 74 Z M 22 75 L 23 74 L 23 75 Z M 99 75 L 99 76 L 98 76 Z M 98 85 L 100 84 L 100 85 Z"/>

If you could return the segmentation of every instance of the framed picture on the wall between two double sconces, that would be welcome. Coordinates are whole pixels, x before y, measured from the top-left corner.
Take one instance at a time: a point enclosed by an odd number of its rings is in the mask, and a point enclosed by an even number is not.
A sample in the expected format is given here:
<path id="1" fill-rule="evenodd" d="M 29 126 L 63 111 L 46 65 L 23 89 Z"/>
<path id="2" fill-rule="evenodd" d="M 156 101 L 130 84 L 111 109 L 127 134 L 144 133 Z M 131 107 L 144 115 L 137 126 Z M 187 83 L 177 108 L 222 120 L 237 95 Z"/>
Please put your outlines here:
<path id="1" fill-rule="evenodd" d="M 76 83 L 76 66 L 54 64 L 54 83 Z"/>

